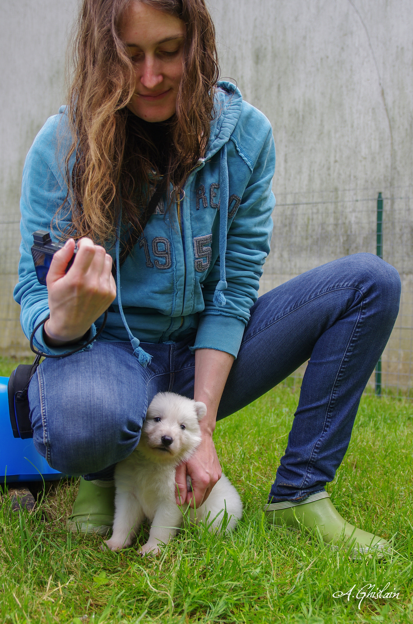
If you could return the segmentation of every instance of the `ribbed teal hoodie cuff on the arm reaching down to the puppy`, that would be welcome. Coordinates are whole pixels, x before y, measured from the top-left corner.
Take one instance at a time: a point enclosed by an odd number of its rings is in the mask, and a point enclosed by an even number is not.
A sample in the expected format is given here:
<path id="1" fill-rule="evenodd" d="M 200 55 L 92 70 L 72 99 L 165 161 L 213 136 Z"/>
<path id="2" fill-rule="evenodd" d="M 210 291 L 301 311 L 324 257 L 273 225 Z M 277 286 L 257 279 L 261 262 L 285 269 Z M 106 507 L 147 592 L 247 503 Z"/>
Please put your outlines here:
<path id="1" fill-rule="evenodd" d="M 190 350 L 215 349 L 225 351 L 234 358 L 238 355 L 244 335 L 245 321 L 227 314 L 204 314 L 201 316 L 197 338 Z"/>

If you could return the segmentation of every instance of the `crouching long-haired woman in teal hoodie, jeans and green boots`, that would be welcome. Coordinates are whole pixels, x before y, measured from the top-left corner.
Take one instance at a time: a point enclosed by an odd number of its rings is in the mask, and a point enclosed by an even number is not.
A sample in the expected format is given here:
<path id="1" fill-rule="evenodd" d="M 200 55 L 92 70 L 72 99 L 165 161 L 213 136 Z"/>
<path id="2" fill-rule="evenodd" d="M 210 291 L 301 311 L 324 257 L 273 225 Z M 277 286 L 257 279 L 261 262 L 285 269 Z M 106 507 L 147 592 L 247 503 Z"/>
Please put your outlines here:
<path id="1" fill-rule="evenodd" d="M 264 115 L 216 82 L 214 37 L 203 0 L 84 1 L 69 106 L 24 168 L 15 298 L 26 336 L 45 321 L 34 344 L 49 354 L 85 344 L 109 314 L 92 348 L 46 359 L 32 379 L 34 444 L 84 475 L 69 527 L 105 534 L 114 466 L 137 445 L 148 402 L 162 390 L 194 397 L 207 406 L 203 440 L 177 469 L 177 504 L 200 505 L 221 475 L 216 419 L 311 356 L 266 515 L 354 552 L 386 550 L 346 524 L 324 486 L 391 333 L 399 276 L 376 256 L 348 256 L 257 300 L 274 142 Z M 47 289 L 30 254 L 39 228 L 67 240 Z"/>

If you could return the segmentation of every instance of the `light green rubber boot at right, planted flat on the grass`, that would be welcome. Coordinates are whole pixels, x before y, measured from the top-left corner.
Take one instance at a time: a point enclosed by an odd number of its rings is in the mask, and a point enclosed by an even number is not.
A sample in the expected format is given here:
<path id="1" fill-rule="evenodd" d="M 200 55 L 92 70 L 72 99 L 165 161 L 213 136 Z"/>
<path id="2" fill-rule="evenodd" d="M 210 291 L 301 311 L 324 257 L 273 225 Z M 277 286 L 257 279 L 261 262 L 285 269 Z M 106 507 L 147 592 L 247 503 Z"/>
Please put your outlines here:
<path id="1" fill-rule="evenodd" d="M 312 494 L 303 502 L 282 501 L 269 503 L 264 507 L 268 520 L 276 527 L 303 529 L 311 532 L 318 527 L 324 544 L 336 550 L 340 544 L 351 547 L 353 559 L 362 559 L 362 555 L 376 554 L 381 558 L 391 552 L 391 545 L 386 540 L 356 529 L 346 522 L 331 502 L 327 492 Z"/>

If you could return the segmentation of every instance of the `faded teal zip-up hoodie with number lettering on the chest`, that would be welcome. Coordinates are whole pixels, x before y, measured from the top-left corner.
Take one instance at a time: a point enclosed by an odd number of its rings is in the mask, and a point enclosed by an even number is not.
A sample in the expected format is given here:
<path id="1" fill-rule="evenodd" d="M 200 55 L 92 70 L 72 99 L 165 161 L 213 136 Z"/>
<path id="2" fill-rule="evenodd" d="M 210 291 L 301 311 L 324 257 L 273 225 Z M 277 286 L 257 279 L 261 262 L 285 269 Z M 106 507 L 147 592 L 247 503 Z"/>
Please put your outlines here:
<path id="1" fill-rule="evenodd" d="M 193 338 L 192 349 L 238 354 L 270 251 L 275 147 L 270 122 L 243 102 L 233 84 L 219 82 L 215 102 L 205 158 L 188 176 L 180 200 L 167 209 L 165 193 L 148 220 L 120 268 L 120 290 L 99 339 L 127 341 L 135 336 L 136 346 L 138 341 Z M 21 260 L 14 299 L 21 305 L 27 338 L 49 314 L 47 288 L 37 281 L 31 245 L 36 230 L 51 230 L 52 224 L 58 232 L 54 215 L 67 194 L 65 111 L 61 107 L 59 115 L 47 120 L 24 165 Z M 171 192 L 172 187 L 167 190 L 168 195 Z M 66 212 L 61 228 L 70 221 L 70 207 Z M 53 234 L 52 239 L 57 240 Z M 115 250 L 110 253 L 115 257 Z M 91 335 L 102 318 L 92 326 Z M 47 346 L 42 328 L 34 346 L 49 354 L 73 348 Z"/>

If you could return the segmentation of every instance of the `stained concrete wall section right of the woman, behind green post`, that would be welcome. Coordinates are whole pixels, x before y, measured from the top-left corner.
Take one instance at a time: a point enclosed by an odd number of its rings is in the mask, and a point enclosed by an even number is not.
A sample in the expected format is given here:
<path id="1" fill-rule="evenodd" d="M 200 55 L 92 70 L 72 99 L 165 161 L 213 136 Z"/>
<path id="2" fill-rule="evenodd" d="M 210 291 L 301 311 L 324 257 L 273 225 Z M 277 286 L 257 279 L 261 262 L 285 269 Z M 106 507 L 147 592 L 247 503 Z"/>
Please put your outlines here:
<path id="1" fill-rule="evenodd" d="M 409 0 L 210 0 L 223 76 L 270 119 L 277 165 L 260 293 L 348 253 L 384 259 L 402 304 L 383 381 L 412 386 L 413 4 Z"/>

